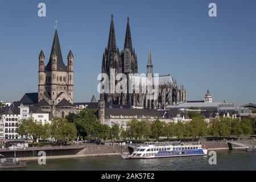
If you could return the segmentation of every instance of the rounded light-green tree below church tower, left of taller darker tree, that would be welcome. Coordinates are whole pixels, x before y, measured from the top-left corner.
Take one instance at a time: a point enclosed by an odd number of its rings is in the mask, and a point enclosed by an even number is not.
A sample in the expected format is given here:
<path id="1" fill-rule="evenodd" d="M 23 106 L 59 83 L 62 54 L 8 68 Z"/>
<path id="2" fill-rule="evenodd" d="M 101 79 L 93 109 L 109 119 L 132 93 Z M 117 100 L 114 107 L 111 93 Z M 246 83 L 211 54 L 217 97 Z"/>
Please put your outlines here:
<path id="1" fill-rule="evenodd" d="M 76 139 L 76 125 L 69 123 L 65 118 L 54 118 L 51 123 L 51 135 L 60 142 Z"/>

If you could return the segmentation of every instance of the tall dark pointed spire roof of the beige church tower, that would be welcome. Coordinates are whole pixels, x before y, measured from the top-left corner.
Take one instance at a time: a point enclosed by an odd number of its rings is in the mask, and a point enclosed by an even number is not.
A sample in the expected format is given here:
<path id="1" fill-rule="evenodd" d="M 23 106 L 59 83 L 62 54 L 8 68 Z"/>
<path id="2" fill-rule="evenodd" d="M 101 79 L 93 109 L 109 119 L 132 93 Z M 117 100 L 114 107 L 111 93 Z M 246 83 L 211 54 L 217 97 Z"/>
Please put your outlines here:
<path id="1" fill-rule="evenodd" d="M 62 71 L 62 72 L 67 71 L 67 67 L 63 63 L 63 59 L 62 59 L 59 36 L 58 36 L 57 30 L 55 30 L 55 35 L 54 35 L 54 39 L 53 39 L 53 43 L 52 43 L 51 55 L 49 58 L 49 62 L 46 66 L 46 71 L 51 71 L 51 69 L 52 69 L 52 55 L 54 52 L 56 53 L 56 56 L 57 56 L 57 71 Z"/>

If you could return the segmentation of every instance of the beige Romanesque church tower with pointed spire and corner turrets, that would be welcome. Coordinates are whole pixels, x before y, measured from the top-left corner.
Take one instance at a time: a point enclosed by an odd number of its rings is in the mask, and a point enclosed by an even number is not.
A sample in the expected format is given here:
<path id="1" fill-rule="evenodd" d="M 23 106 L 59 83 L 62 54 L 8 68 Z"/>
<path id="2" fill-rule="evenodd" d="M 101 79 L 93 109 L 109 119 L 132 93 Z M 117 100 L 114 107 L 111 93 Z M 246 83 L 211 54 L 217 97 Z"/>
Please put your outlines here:
<path id="1" fill-rule="evenodd" d="M 73 53 L 69 51 L 68 65 L 63 63 L 57 28 L 53 38 L 48 64 L 45 56 L 39 54 L 38 105 L 51 111 L 55 117 L 64 117 L 73 111 Z M 47 110 L 48 109 L 48 110 Z"/>

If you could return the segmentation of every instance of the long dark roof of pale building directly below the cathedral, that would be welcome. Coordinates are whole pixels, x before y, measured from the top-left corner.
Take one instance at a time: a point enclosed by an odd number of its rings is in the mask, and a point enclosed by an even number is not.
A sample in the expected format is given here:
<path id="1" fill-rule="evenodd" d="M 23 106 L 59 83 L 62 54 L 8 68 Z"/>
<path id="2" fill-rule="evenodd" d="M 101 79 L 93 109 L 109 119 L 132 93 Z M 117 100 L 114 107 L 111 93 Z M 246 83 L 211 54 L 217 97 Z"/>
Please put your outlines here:
<path id="1" fill-rule="evenodd" d="M 110 118 L 110 115 L 135 116 L 137 117 L 162 117 L 156 109 L 112 109 L 105 108 L 105 118 Z"/>

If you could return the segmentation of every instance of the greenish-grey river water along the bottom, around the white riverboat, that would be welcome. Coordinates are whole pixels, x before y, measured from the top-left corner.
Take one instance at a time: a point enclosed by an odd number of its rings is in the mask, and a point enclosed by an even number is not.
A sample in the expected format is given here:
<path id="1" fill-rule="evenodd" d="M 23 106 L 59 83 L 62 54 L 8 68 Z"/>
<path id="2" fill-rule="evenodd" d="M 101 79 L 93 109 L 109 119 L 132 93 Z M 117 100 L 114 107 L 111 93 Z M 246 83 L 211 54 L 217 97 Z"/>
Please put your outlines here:
<path id="1" fill-rule="evenodd" d="M 46 165 L 39 165 L 37 161 L 33 161 L 27 162 L 27 167 L 19 170 L 256 170 L 256 152 L 243 150 L 216 152 L 216 165 L 208 163 L 210 156 L 125 160 L 117 155 L 48 159 Z"/>

